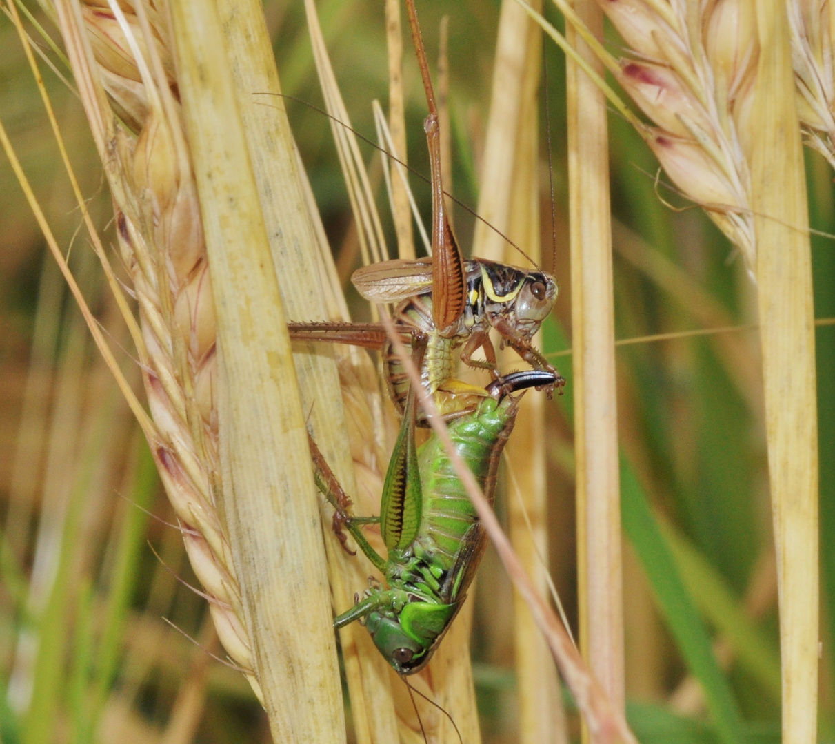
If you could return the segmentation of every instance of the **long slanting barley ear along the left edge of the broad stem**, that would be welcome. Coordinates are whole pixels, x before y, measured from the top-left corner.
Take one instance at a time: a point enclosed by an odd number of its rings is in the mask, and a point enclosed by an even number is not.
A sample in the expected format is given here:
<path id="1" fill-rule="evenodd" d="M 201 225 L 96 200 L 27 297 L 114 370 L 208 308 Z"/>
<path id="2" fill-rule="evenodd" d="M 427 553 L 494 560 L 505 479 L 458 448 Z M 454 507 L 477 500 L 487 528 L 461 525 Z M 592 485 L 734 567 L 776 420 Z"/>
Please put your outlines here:
<path id="1" fill-rule="evenodd" d="M 145 9 L 149 25 L 161 28 L 154 8 Z M 215 510 L 214 302 L 190 156 L 170 93 L 171 55 L 163 34 L 154 33 L 153 52 L 142 58 L 140 73 L 131 44 L 143 53 L 149 48 L 137 47 L 144 33 L 135 13 L 120 24 L 114 8 L 58 2 L 56 10 L 109 176 L 119 248 L 139 304 L 139 359 L 158 436 L 154 459 L 195 574 L 212 597 L 218 635 L 261 694 L 230 548 Z M 149 63 L 164 71 L 164 88 Z M 134 132 L 119 126 L 118 115 Z"/>

